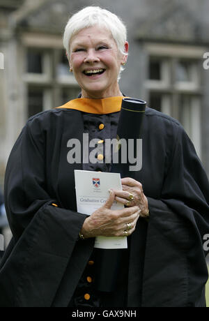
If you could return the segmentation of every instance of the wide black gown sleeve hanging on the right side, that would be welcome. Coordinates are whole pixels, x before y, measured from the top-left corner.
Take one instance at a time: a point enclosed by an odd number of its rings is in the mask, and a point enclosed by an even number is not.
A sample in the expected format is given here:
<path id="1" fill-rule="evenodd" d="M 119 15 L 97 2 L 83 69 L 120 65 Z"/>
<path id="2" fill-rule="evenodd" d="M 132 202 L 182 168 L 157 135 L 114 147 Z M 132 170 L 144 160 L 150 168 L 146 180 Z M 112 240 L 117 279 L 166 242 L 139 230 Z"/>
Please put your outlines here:
<path id="1" fill-rule="evenodd" d="M 161 197 L 148 197 L 148 204 L 144 306 L 203 306 L 209 184 L 181 126 Z"/>

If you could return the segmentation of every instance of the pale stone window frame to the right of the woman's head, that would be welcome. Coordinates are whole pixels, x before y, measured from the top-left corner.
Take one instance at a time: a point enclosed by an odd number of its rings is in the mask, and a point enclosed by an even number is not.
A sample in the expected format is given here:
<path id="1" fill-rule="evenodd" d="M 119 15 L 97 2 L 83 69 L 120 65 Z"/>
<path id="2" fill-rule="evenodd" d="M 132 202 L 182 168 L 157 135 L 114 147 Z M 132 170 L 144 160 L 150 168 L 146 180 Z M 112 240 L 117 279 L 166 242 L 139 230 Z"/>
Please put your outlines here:
<path id="1" fill-rule="evenodd" d="M 148 64 L 150 59 L 159 59 L 162 63 L 162 79 L 149 80 L 147 77 L 144 82 L 147 97 L 150 97 L 150 93 L 162 95 L 161 111 L 183 124 L 201 158 L 202 57 L 207 51 L 206 48 L 173 43 L 145 43 L 144 50 Z M 176 81 L 178 61 L 191 63 L 189 73 L 192 75 L 192 81 Z M 180 101 L 183 102 L 183 110 L 180 109 Z"/>

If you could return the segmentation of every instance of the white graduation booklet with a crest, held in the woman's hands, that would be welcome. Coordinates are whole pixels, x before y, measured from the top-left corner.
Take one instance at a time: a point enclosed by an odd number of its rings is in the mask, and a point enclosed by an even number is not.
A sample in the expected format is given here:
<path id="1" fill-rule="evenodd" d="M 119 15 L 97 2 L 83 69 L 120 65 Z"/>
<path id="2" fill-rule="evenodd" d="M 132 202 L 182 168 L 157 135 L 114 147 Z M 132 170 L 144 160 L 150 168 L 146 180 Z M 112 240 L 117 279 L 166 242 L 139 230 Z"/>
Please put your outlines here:
<path id="1" fill-rule="evenodd" d="M 109 188 L 122 191 L 121 174 L 75 170 L 77 211 L 91 215 L 107 201 Z M 123 208 L 116 201 L 111 206 L 112 210 Z M 127 248 L 127 237 L 96 237 L 94 247 Z"/>

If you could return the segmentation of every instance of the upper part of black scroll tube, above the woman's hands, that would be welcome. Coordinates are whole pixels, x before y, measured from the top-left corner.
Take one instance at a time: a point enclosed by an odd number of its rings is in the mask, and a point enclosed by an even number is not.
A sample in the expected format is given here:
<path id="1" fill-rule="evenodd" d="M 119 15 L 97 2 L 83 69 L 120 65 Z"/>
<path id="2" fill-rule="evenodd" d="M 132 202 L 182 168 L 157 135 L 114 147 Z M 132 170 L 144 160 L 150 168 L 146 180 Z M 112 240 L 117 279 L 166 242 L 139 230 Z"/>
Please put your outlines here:
<path id="1" fill-rule="evenodd" d="M 123 98 L 117 130 L 117 150 L 113 153 L 111 172 L 137 172 L 142 165 L 141 128 L 146 109 L 146 101 Z"/>

